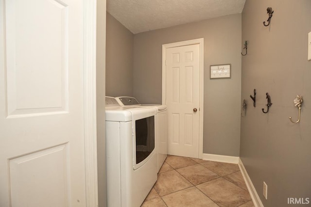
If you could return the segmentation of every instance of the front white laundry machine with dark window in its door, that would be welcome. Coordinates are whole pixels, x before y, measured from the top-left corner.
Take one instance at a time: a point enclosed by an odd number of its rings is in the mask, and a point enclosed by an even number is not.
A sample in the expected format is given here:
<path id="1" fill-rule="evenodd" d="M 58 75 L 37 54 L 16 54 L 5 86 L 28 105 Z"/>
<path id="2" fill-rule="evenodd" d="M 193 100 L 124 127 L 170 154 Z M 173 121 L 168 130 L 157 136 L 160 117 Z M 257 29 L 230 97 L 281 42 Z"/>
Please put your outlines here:
<path id="1" fill-rule="evenodd" d="M 121 107 L 106 96 L 108 207 L 139 207 L 157 180 L 154 107 Z"/>

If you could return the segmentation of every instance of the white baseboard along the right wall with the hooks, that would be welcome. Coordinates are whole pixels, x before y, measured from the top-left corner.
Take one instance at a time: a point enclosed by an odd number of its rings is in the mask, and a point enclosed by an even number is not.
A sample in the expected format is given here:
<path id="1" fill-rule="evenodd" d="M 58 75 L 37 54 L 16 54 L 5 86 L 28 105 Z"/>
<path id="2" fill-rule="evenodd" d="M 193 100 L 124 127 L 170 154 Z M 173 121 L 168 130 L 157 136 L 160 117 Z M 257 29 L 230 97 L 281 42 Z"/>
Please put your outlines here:
<path id="1" fill-rule="evenodd" d="M 263 204 L 261 203 L 261 200 L 259 198 L 259 195 L 251 181 L 251 178 L 248 176 L 247 171 L 243 165 L 242 160 L 239 158 L 239 167 L 240 167 L 240 171 L 242 173 L 242 176 L 244 178 L 245 184 L 247 186 L 248 192 L 253 200 L 254 206 L 255 207 L 263 207 Z"/>

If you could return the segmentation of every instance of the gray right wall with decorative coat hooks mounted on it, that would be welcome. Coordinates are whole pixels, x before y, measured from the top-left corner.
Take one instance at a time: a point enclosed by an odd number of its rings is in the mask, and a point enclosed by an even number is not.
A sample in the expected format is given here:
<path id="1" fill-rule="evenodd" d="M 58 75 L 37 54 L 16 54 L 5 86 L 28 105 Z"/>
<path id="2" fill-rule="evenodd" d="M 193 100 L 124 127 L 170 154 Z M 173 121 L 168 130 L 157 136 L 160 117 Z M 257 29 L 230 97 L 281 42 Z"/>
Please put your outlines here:
<path id="1" fill-rule="evenodd" d="M 274 14 L 264 27 L 267 7 Z M 311 32 L 311 0 L 246 0 L 242 12 L 242 99 L 240 156 L 265 207 L 285 207 L 288 197 L 311 198 L 311 61 L 307 61 Z M 257 106 L 249 95 L 257 90 Z M 264 114 L 268 92 L 273 103 Z M 301 122 L 294 98 L 304 98 Z M 268 200 L 262 183 L 268 185 Z M 310 206 L 309 205 L 292 205 Z"/>

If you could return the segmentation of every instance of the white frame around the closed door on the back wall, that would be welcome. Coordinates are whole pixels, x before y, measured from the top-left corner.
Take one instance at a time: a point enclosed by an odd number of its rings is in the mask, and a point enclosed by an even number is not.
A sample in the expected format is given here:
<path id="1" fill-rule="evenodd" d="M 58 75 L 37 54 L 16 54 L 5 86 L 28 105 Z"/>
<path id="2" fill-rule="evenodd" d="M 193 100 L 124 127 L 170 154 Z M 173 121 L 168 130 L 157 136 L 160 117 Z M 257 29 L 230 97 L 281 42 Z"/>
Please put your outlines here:
<path id="1" fill-rule="evenodd" d="M 199 159 L 203 158 L 203 115 L 204 115 L 204 38 L 162 45 L 162 104 L 166 104 L 166 49 L 187 45 L 200 46 L 200 104 L 199 104 Z"/>

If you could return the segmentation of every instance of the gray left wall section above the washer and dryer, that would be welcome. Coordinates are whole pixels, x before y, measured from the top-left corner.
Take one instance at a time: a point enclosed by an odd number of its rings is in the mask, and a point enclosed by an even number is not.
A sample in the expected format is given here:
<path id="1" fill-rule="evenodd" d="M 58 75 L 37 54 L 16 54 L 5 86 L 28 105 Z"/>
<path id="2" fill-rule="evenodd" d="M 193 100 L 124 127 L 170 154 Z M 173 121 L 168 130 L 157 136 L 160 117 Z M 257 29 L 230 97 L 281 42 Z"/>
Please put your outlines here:
<path id="1" fill-rule="evenodd" d="M 107 13 L 106 96 L 133 96 L 133 33 Z"/>

